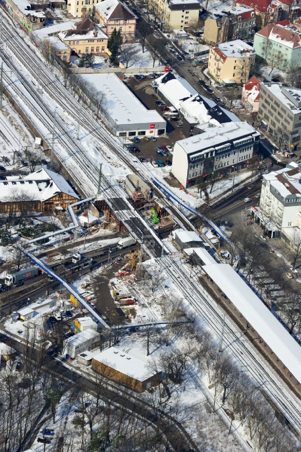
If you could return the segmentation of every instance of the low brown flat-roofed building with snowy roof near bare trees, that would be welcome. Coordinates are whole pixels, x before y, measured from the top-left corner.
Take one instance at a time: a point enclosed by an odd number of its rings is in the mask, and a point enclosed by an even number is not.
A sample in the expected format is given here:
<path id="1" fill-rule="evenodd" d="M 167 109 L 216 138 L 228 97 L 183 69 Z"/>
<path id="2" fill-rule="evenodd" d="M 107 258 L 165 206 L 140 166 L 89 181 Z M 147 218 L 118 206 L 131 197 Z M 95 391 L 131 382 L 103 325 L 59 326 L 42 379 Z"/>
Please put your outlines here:
<path id="1" fill-rule="evenodd" d="M 95 355 L 92 359 L 92 369 L 137 392 L 157 386 L 162 377 L 162 372 L 153 373 L 148 363 L 116 347 L 107 348 Z"/>

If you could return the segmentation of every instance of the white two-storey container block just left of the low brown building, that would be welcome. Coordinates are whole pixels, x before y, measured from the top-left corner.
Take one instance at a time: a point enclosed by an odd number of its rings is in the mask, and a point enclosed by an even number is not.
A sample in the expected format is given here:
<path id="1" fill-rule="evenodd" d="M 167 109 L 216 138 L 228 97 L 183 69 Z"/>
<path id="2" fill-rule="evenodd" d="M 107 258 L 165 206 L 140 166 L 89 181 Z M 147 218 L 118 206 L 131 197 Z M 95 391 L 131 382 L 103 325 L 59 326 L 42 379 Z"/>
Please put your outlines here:
<path id="1" fill-rule="evenodd" d="M 93 348 L 99 346 L 100 334 L 88 328 L 88 330 L 80 331 L 79 334 L 64 340 L 63 354 L 66 359 L 74 359 L 79 353 L 83 353 L 85 350 L 93 350 Z"/>

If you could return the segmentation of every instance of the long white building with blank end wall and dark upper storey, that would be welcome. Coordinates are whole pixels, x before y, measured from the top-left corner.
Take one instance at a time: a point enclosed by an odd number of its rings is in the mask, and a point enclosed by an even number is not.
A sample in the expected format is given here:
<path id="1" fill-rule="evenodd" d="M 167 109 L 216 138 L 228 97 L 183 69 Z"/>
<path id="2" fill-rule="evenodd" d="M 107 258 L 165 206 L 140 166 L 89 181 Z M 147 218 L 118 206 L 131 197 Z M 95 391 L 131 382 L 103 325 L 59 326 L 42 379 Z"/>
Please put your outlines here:
<path id="1" fill-rule="evenodd" d="M 258 150 L 260 134 L 247 122 L 202 126 L 204 132 L 177 141 L 172 174 L 186 188 L 208 174 L 221 176 L 247 167 Z"/>

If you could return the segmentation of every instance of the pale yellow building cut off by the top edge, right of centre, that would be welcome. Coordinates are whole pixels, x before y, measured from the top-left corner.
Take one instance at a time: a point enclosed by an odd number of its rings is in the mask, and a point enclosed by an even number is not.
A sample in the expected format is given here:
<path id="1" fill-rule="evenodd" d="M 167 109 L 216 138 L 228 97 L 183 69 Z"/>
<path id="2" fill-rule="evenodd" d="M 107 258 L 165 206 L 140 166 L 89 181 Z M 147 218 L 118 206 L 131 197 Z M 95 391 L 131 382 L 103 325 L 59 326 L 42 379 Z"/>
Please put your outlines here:
<path id="1" fill-rule="evenodd" d="M 167 30 L 187 30 L 199 20 L 197 0 L 154 0 L 158 18 Z"/>

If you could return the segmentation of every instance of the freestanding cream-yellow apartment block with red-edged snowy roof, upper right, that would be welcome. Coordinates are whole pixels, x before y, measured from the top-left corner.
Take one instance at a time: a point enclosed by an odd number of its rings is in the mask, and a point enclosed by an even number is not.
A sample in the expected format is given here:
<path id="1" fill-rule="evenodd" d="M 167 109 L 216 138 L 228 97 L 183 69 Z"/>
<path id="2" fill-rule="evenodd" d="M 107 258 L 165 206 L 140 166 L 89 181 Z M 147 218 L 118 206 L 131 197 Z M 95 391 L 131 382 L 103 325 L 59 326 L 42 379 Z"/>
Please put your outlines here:
<path id="1" fill-rule="evenodd" d="M 255 50 L 240 39 L 224 42 L 209 50 L 210 75 L 223 85 L 242 85 L 249 79 Z"/>

